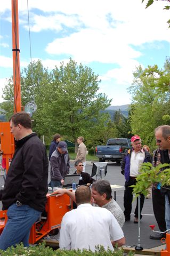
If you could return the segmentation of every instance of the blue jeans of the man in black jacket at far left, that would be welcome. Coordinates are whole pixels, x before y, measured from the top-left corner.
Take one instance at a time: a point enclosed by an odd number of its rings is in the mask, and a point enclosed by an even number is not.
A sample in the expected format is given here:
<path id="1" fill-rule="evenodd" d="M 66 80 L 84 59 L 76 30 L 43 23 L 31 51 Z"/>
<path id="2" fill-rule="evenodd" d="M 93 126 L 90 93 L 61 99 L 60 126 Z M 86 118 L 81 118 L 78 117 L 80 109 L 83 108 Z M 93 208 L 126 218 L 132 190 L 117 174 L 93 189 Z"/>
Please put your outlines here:
<path id="1" fill-rule="evenodd" d="M 26 204 L 12 204 L 7 210 L 8 219 L 0 236 L 0 249 L 6 250 L 7 247 L 21 242 L 25 247 L 29 246 L 30 229 L 40 215 L 41 212 Z"/>

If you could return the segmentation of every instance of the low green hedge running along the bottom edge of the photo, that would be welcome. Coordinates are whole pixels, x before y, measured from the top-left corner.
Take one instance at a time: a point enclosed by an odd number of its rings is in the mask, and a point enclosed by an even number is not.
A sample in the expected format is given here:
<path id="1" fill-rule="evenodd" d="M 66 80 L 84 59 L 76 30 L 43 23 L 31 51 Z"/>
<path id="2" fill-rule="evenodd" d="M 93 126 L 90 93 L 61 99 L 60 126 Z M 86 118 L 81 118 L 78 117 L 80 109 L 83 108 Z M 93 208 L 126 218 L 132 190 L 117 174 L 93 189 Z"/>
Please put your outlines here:
<path id="1" fill-rule="evenodd" d="M 45 243 L 37 246 L 23 247 L 23 244 L 17 245 L 17 247 L 9 247 L 6 251 L 0 250 L 2 256 L 123 256 L 123 249 L 115 250 L 114 252 L 108 249 L 104 250 L 103 246 L 96 247 L 96 251 L 91 250 L 56 250 L 53 251 L 50 247 L 45 247 Z M 129 256 L 133 256 L 133 252 L 128 253 Z"/>

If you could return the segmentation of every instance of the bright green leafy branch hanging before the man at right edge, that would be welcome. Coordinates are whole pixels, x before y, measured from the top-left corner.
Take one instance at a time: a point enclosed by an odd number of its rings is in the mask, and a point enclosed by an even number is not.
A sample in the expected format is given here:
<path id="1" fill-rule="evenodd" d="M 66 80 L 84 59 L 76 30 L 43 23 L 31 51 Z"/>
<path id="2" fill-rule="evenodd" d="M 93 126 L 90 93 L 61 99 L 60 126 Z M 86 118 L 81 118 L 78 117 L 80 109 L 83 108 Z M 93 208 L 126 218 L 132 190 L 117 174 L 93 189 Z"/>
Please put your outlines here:
<path id="1" fill-rule="evenodd" d="M 148 188 L 154 183 L 161 183 L 161 186 L 170 185 L 170 167 L 169 164 L 159 164 L 153 167 L 151 163 L 141 165 L 140 174 L 136 178 L 136 184 L 132 185 L 135 197 L 139 194 L 148 195 Z M 164 170 L 165 169 L 165 170 Z"/>

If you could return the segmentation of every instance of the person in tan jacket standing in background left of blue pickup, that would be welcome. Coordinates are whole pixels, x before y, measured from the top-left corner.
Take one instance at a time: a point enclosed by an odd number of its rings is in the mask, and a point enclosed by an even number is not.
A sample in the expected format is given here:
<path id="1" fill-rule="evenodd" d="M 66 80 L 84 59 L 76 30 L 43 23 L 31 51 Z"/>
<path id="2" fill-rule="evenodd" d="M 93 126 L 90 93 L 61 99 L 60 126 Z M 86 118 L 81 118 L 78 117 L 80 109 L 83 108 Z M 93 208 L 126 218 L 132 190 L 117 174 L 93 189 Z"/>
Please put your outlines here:
<path id="1" fill-rule="evenodd" d="M 75 159 L 76 161 L 81 161 L 83 163 L 83 172 L 85 172 L 85 165 L 86 165 L 86 154 L 87 154 L 87 148 L 85 144 L 83 143 L 84 138 L 83 137 L 78 137 L 77 138 L 77 143 L 78 143 L 78 151 L 77 151 L 77 156 Z"/>

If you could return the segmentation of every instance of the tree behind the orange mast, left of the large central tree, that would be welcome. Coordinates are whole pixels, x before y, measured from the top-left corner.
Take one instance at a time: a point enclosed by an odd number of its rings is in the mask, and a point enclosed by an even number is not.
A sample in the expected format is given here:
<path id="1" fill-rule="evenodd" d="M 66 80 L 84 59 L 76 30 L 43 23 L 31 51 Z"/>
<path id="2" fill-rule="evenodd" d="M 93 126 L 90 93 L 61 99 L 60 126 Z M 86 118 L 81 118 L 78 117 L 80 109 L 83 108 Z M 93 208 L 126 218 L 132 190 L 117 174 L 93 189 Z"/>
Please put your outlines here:
<path id="1" fill-rule="evenodd" d="M 21 102 L 23 109 L 26 103 L 30 101 L 35 101 L 37 105 L 37 112 L 41 112 L 41 105 L 44 99 L 42 94 L 42 88 L 46 87 L 51 81 L 51 73 L 45 69 L 40 60 L 34 61 L 21 71 Z M 2 108 L 6 111 L 6 116 L 9 118 L 13 114 L 13 102 L 14 102 L 14 88 L 13 88 L 13 78 L 9 78 L 8 84 L 3 90 L 3 102 Z M 37 119 L 34 116 L 33 128 L 34 131 L 37 130 L 36 127 Z M 41 133 L 39 133 L 41 135 Z M 42 134 L 43 135 L 43 134 Z"/>

